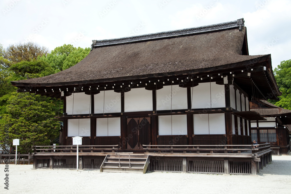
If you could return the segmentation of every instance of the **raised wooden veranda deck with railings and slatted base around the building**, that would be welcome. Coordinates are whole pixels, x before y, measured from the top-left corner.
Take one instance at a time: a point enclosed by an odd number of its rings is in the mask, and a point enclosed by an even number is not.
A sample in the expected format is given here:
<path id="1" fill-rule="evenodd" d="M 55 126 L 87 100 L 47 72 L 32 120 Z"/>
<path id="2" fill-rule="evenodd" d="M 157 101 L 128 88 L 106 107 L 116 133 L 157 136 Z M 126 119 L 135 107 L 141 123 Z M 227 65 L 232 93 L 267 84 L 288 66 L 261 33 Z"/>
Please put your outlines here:
<path id="1" fill-rule="evenodd" d="M 260 145 L 143 145 L 143 153 L 130 157 L 148 156 L 147 170 L 213 174 L 256 175 L 272 161 L 269 143 Z M 102 167 L 106 158 L 116 157 L 118 145 L 79 146 L 79 169 Z M 76 146 L 35 146 L 33 168 L 76 169 Z M 124 161 L 123 161 L 124 162 Z M 102 168 L 101 168 L 102 169 Z M 122 171 L 119 171 L 122 172 Z"/>

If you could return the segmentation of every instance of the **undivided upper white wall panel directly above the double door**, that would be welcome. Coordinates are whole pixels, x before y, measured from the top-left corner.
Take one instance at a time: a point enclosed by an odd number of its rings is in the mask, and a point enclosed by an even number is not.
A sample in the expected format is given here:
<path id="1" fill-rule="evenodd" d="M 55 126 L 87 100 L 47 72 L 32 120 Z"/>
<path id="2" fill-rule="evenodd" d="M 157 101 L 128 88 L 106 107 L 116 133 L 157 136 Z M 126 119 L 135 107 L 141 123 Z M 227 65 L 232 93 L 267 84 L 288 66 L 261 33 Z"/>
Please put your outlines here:
<path id="1" fill-rule="evenodd" d="M 152 91 L 145 88 L 133 88 L 125 92 L 124 111 L 152 111 Z"/>

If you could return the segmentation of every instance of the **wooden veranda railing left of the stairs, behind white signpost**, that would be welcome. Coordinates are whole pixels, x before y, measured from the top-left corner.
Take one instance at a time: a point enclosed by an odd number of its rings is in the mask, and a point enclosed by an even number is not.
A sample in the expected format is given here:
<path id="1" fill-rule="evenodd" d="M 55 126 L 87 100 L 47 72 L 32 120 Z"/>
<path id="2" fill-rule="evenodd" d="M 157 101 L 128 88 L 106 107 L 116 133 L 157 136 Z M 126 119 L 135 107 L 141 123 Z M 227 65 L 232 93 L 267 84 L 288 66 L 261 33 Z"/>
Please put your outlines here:
<path id="1" fill-rule="evenodd" d="M 65 153 L 76 152 L 77 145 L 49 145 L 49 146 L 33 146 L 34 153 Z M 79 145 L 79 152 L 115 152 L 119 149 L 119 145 Z"/>

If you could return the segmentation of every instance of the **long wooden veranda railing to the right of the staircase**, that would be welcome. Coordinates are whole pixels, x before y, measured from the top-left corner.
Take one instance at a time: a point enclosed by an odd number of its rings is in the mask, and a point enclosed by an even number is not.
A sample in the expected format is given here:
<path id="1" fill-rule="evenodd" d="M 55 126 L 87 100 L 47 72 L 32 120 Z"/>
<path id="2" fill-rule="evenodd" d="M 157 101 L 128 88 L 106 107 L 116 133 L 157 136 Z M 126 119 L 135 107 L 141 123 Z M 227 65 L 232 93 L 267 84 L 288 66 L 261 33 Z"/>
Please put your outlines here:
<path id="1" fill-rule="evenodd" d="M 158 153 L 233 153 L 241 154 L 242 152 L 249 152 L 248 154 L 263 154 L 270 151 L 270 143 L 258 145 L 143 145 L 146 152 Z M 209 147 L 209 148 L 207 148 Z"/>

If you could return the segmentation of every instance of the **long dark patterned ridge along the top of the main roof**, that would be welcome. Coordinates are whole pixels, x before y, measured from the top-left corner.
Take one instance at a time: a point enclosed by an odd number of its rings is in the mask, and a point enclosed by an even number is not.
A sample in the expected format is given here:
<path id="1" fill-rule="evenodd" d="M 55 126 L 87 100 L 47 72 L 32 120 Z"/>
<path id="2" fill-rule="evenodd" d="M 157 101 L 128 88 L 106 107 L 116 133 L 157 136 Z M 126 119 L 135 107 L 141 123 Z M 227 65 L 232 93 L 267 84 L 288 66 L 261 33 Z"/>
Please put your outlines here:
<path id="1" fill-rule="evenodd" d="M 241 31 L 243 26 L 244 26 L 244 18 L 237 19 L 231 22 L 212 24 L 208 26 L 200 26 L 200 27 L 194 27 L 194 28 L 158 32 L 158 33 L 130 36 L 130 37 L 124 37 L 124 38 L 92 40 L 91 46 L 93 49 L 93 47 L 100 47 L 100 46 L 105 46 L 105 45 L 116 45 L 116 44 L 136 42 L 136 41 L 141 41 L 141 40 L 175 37 L 175 36 L 180 36 L 180 35 L 189 35 L 189 34 L 196 34 L 196 33 L 202 33 L 202 32 L 217 31 L 221 29 L 228 29 L 228 28 L 234 28 L 234 27 L 239 27 L 239 31 Z"/>

